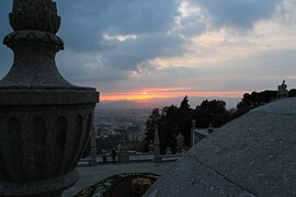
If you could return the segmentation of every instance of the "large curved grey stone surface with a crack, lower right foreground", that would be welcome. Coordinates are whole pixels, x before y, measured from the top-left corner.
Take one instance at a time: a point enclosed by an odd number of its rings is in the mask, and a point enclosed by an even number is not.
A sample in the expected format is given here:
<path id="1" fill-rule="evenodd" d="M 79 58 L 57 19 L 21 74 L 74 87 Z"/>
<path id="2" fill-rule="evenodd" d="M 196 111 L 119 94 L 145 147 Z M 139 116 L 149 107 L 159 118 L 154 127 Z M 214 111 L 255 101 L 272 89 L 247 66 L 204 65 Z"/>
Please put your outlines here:
<path id="1" fill-rule="evenodd" d="M 146 196 L 295 196 L 295 108 L 286 99 L 217 129 Z"/>

